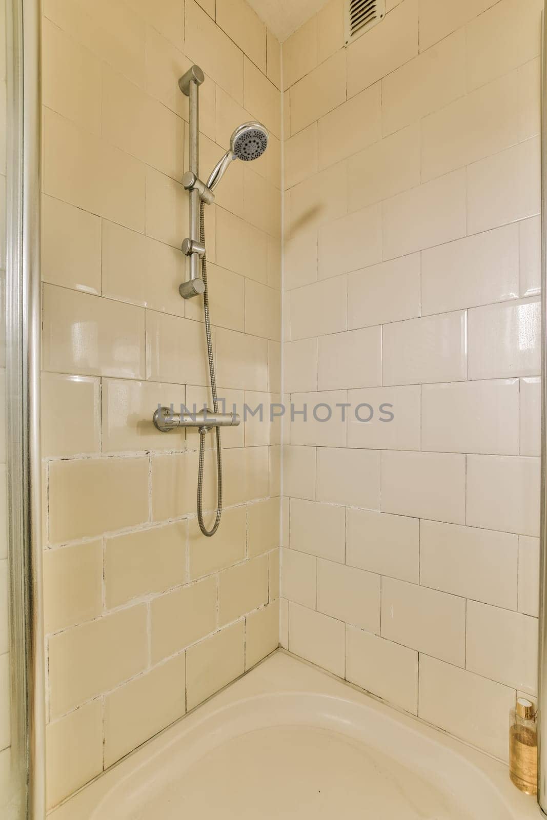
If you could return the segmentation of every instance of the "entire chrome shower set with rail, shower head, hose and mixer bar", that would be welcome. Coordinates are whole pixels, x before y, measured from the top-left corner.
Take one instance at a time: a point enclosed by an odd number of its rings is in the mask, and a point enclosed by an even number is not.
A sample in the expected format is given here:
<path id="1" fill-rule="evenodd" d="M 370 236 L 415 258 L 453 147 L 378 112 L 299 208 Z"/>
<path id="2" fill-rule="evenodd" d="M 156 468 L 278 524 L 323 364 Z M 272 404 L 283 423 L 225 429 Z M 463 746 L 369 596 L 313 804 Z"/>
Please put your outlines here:
<path id="1" fill-rule="evenodd" d="M 157 408 L 153 416 L 154 425 L 162 433 L 177 430 L 180 427 L 197 427 L 199 430 L 198 462 L 198 523 L 203 535 L 214 535 L 221 523 L 222 515 L 222 452 L 221 427 L 233 427 L 240 424 L 237 413 L 219 411 L 215 362 L 212 352 L 211 317 L 209 314 L 209 292 L 207 289 L 207 255 L 205 248 L 205 206 L 212 205 L 215 195 L 212 193 L 221 181 L 226 169 L 235 159 L 251 162 L 262 157 L 268 144 L 268 132 L 260 122 L 245 122 L 236 128 L 230 139 L 230 148 L 224 157 L 213 168 L 205 184 L 199 179 L 199 86 L 205 76 L 199 66 L 192 66 L 179 80 L 179 88 L 189 98 L 189 170 L 182 177 L 182 184 L 190 197 L 190 230 L 189 237 L 181 245 L 182 253 L 189 257 L 189 280 L 180 285 L 182 298 L 189 299 L 203 294 L 203 313 L 205 317 L 205 335 L 207 339 L 207 359 L 209 362 L 209 380 L 212 394 L 212 410 L 201 412 L 175 413 L 172 408 Z M 199 264 L 201 262 L 201 276 Z M 205 461 L 205 436 L 209 430 L 215 430 L 217 444 L 217 515 L 210 530 L 203 522 L 203 465 Z"/>

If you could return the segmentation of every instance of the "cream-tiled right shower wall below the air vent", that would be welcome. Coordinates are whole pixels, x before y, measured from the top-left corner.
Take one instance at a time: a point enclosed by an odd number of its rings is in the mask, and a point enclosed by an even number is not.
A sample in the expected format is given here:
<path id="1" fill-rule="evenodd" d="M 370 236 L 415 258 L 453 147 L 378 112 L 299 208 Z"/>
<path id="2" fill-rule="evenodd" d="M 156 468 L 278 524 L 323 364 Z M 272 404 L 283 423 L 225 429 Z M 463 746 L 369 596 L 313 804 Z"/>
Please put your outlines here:
<path id="1" fill-rule="evenodd" d="M 344 48 L 330 0 L 283 45 L 284 390 L 334 415 L 287 430 L 281 639 L 499 758 L 536 692 L 541 5 L 388 0 Z"/>

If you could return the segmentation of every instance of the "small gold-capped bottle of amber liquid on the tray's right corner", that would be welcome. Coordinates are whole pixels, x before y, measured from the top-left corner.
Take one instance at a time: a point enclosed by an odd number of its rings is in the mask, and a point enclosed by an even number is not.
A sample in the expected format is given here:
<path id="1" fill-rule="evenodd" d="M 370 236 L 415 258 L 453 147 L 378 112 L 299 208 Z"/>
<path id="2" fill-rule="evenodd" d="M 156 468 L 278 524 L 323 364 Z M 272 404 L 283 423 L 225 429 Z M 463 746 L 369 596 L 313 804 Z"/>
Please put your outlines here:
<path id="1" fill-rule="evenodd" d="M 509 776 L 526 795 L 537 794 L 536 709 L 525 698 L 517 698 L 509 718 Z"/>

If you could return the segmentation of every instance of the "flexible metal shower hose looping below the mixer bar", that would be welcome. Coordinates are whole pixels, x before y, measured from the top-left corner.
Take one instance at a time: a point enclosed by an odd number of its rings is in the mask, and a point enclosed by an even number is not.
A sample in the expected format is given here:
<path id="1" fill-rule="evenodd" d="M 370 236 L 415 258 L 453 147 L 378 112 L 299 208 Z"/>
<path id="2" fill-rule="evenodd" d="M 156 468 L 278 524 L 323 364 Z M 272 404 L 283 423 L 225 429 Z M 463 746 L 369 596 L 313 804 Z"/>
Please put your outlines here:
<path id="1" fill-rule="evenodd" d="M 205 203 L 201 203 L 199 207 L 199 239 L 203 248 L 205 248 Z M 211 335 L 211 317 L 209 315 L 209 291 L 207 288 L 207 256 L 203 253 L 202 261 L 202 277 L 203 285 L 203 312 L 205 313 L 205 335 L 207 336 L 207 358 L 209 359 L 209 379 L 211 380 L 212 393 L 212 408 L 214 412 L 218 412 L 218 397 L 217 397 L 217 379 L 215 376 L 215 362 L 212 356 L 212 335 Z M 199 430 L 199 467 L 198 467 L 198 523 L 199 529 L 207 538 L 218 530 L 221 523 L 222 515 L 222 453 L 221 453 L 221 428 L 215 427 L 217 435 L 217 517 L 211 530 L 207 530 L 203 522 L 203 465 L 205 461 L 205 436 L 207 430 L 201 428 Z"/>

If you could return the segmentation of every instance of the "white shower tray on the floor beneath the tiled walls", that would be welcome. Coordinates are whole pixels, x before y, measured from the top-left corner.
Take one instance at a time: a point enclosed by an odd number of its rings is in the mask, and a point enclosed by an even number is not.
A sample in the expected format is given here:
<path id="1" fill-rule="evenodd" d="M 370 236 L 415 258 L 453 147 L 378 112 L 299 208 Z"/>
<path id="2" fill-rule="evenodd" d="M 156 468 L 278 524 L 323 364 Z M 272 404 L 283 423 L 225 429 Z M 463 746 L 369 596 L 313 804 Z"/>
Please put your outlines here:
<path id="1" fill-rule="evenodd" d="M 50 820 L 526 820 L 485 754 L 279 652 Z"/>

